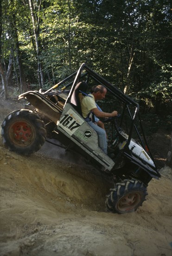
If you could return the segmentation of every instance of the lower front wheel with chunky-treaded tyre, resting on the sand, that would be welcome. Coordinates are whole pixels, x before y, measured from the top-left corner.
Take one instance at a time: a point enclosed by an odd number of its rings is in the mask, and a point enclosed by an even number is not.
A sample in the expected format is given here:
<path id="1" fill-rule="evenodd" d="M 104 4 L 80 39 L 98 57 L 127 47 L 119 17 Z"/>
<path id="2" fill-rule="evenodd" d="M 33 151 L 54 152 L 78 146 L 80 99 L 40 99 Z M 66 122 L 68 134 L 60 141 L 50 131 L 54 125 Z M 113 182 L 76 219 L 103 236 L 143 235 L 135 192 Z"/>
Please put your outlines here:
<path id="1" fill-rule="evenodd" d="M 110 190 L 106 207 L 108 211 L 113 213 L 133 212 L 146 200 L 146 186 L 135 179 L 116 183 L 115 188 Z"/>

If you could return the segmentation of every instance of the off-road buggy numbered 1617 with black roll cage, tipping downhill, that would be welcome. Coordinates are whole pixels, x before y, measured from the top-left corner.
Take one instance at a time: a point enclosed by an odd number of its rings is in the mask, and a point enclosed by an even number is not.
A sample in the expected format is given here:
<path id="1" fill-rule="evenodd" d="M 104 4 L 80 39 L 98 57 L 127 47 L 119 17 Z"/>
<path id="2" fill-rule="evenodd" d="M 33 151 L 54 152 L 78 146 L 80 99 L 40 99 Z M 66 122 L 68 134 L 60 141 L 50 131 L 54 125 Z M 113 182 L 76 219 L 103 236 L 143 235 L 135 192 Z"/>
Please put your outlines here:
<path id="1" fill-rule="evenodd" d="M 109 100 L 104 101 L 110 102 L 108 112 L 116 109 L 121 113 L 120 117 L 104 120 L 110 157 L 99 148 L 96 131 L 81 112 L 80 98 L 95 84 L 108 90 Z M 139 105 L 134 100 L 85 63 L 52 88 L 29 91 L 19 95 L 22 98 L 29 102 L 25 109 L 14 110 L 2 123 L 1 135 L 8 148 L 30 154 L 38 151 L 46 138 L 57 139 L 113 179 L 115 186 L 106 199 L 108 211 L 127 213 L 142 205 L 148 183 L 152 178 L 159 179 L 160 174 L 143 132 Z"/>

